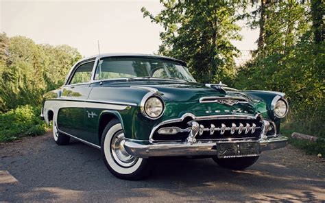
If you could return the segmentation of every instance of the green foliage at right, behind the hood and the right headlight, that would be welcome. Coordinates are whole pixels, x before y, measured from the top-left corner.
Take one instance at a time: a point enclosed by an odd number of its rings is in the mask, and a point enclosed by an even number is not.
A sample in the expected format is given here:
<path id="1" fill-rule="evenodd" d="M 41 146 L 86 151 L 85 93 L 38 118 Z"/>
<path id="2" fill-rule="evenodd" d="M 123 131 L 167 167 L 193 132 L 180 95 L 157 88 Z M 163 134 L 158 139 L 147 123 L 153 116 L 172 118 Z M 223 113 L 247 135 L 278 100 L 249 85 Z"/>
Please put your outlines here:
<path id="1" fill-rule="evenodd" d="M 266 13 L 265 45 L 240 67 L 234 84 L 286 93 L 285 126 L 324 138 L 325 45 L 313 40 L 310 5 L 283 1 L 269 5 Z"/>

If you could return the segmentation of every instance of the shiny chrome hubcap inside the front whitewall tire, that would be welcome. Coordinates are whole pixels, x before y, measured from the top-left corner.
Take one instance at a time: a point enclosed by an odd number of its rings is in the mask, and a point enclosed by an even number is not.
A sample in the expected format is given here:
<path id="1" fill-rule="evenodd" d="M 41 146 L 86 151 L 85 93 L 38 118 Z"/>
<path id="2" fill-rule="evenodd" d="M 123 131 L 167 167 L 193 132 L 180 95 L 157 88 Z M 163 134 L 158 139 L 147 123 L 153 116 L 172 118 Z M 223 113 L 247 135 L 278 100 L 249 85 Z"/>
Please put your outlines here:
<path id="1" fill-rule="evenodd" d="M 117 132 L 112 138 L 111 152 L 115 161 L 121 165 L 121 167 L 131 167 L 136 163 L 138 158 L 131 156 L 124 149 L 125 137 L 123 131 Z"/>

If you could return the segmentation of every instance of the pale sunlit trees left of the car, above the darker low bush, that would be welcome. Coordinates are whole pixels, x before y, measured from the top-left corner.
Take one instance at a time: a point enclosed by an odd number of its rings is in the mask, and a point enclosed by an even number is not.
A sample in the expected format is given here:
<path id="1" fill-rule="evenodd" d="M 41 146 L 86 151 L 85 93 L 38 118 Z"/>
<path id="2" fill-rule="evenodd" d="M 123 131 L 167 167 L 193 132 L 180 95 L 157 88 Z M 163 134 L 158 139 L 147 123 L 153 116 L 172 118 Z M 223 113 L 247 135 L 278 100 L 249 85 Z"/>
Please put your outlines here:
<path id="1" fill-rule="evenodd" d="M 19 105 L 39 105 L 44 93 L 63 84 L 80 58 L 80 53 L 67 45 L 36 45 L 23 36 L 0 34 L 0 112 Z"/>

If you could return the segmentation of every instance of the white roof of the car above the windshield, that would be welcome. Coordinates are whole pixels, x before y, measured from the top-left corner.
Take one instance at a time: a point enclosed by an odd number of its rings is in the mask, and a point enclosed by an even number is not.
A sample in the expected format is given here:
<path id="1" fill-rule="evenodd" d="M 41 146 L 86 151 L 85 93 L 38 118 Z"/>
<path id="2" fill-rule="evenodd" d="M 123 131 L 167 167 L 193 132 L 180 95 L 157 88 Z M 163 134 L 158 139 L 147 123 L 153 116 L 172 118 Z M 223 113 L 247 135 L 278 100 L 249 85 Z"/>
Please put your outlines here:
<path id="1" fill-rule="evenodd" d="M 144 57 L 144 58 L 156 58 L 156 59 L 165 59 L 165 60 L 171 60 L 175 62 L 179 62 L 180 64 L 184 65 L 186 67 L 186 62 L 182 60 L 178 60 L 176 58 L 171 58 L 167 56 L 159 56 L 159 55 L 154 55 L 154 54 L 144 54 L 144 53 L 101 53 L 100 55 L 93 55 L 93 56 L 88 56 L 86 58 L 82 58 L 80 62 L 84 60 L 89 60 L 91 58 L 106 58 L 106 57 Z"/>

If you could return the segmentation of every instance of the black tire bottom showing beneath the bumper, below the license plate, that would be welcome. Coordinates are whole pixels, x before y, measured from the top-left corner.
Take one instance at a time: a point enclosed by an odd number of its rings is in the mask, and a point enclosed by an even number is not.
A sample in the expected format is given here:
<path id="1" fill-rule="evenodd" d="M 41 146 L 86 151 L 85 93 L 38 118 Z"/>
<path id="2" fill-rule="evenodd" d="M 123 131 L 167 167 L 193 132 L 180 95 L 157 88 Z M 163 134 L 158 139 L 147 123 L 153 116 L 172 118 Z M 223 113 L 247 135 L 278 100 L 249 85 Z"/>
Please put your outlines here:
<path id="1" fill-rule="evenodd" d="M 237 158 L 217 158 L 213 157 L 215 163 L 227 169 L 242 170 L 253 165 L 259 156 L 237 157 Z"/>

